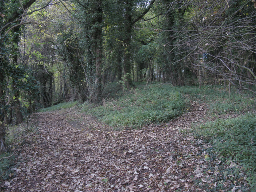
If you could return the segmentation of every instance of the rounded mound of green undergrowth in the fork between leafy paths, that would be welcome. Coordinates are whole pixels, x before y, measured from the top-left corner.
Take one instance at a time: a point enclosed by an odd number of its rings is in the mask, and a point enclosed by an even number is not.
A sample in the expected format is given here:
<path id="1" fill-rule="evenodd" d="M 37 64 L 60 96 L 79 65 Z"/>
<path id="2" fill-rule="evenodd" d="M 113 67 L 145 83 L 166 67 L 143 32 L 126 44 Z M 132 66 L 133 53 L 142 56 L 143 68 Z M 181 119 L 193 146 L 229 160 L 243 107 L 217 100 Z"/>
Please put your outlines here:
<path id="1" fill-rule="evenodd" d="M 140 85 L 116 100 L 92 107 L 85 103 L 82 112 L 96 116 L 110 126 L 138 128 L 145 124 L 169 121 L 188 106 L 183 95 L 168 84 Z"/>

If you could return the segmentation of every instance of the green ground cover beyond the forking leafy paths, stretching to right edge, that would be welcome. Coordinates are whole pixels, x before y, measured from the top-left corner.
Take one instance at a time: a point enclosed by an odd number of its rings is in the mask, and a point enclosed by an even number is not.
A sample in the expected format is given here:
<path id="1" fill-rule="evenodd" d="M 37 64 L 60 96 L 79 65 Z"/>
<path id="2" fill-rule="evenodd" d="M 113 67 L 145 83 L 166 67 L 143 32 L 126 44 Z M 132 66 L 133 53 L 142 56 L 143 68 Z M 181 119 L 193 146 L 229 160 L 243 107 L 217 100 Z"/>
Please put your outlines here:
<path id="1" fill-rule="evenodd" d="M 209 115 L 248 112 L 255 108 L 255 101 L 233 92 L 228 95 L 221 86 L 209 88 L 202 86 L 173 87 L 171 84 L 154 83 L 145 88 L 144 82 L 136 84 L 136 89 L 123 96 L 118 84 L 109 84 L 105 90 L 108 99 L 102 106 L 85 103 L 82 112 L 96 116 L 102 122 L 113 127 L 138 128 L 145 124 L 167 122 L 183 113 L 190 100 L 206 102 Z M 115 94 L 116 93 L 116 94 Z"/>

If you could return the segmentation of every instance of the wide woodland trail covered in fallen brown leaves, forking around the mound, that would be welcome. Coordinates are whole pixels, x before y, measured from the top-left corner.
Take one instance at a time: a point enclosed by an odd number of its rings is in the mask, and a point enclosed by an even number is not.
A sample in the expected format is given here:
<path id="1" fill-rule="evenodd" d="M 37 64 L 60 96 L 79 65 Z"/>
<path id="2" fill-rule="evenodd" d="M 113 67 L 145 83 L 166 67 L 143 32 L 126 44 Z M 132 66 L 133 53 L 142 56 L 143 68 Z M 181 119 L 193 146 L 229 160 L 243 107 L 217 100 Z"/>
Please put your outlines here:
<path id="1" fill-rule="evenodd" d="M 16 174 L 1 185 L 13 192 L 200 190 L 194 180 L 208 182 L 202 140 L 179 130 L 204 116 L 194 102 L 167 124 L 113 130 L 75 110 L 35 114 L 38 131 L 26 138 Z"/>

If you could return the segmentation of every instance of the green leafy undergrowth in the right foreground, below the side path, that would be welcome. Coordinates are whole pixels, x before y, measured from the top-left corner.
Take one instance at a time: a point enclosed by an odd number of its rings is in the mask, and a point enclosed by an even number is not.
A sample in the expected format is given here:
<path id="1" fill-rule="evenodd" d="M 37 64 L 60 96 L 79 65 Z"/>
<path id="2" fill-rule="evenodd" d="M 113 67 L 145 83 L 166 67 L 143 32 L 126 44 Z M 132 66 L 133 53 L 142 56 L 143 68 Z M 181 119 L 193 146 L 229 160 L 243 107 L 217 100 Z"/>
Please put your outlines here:
<path id="1" fill-rule="evenodd" d="M 217 119 L 194 128 L 194 133 L 212 144 L 212 153 L 223 162 L 235 162 L 246 172 L 246 180 L 256 191 L 256 116 Z M 233 169 L 236 170 L 236 167 Z M 239 174 L 239 171 L 236 171 Z"/>

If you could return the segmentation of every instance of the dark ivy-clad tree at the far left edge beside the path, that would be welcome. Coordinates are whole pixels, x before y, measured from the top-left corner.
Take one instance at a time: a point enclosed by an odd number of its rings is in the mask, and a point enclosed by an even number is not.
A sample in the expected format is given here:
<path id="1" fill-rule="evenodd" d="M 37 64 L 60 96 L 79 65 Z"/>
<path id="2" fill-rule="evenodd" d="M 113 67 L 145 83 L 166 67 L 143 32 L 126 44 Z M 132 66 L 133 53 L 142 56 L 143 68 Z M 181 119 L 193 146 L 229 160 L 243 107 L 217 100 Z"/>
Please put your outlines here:
<path id="1" fill-rule="evenodd" d="M 5 98 L 7 89 L 6 79 L 12 73 L 12 66 L 9 64 L 10 61 L 7 57 L 7 43 L 12 41 L 10 39 L 10 32 L 13 32 L 13 43 L 15 44 L 15 40 L 18 39 L 18 36 L 15 35 L 19 34 L 15 30 L 27 23 L 23 18 L 28 8 L 35 1 L 29 0 L 23 2 L 23 4 L 20 1 L 0 1 L 0 152 L 6 151 L 4 113 L 9 104 Z M 15 57 L 14 62 L 16 60 Z"/>

